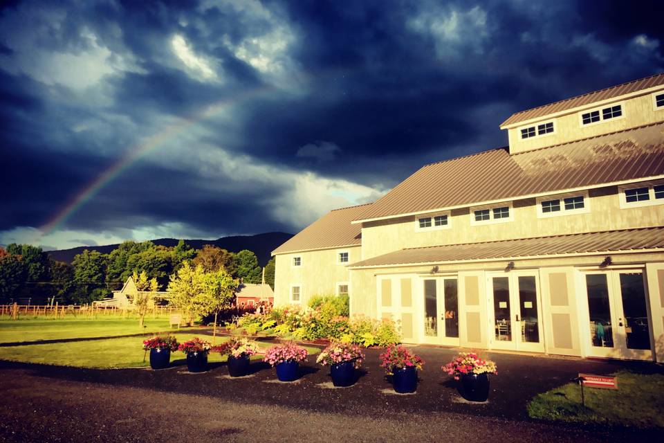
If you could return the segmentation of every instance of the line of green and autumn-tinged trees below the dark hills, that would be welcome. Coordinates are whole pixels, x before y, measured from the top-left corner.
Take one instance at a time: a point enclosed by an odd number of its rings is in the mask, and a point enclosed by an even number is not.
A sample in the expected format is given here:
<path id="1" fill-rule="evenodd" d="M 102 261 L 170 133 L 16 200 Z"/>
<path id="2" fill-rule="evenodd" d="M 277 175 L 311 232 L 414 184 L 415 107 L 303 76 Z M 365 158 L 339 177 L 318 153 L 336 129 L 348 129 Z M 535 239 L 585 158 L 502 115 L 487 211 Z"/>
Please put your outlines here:
<path id="1" fill-rule="evenodd" d="M 68 264 L 53 260 L 39 246 L 10 244 L 0 247 L 0 302 L 55 298 L 82 305 L 111 296 L 131 275 L 154 281 L 157 290 L 165 290 L 170 276 L 186 262 L 205 273 L 225 269 L 231 278 L 245 283 L 262 280 L 258 258 L 247 249 L 232 253 L 210 244 L 194 249 L 183 240 L 174 247 L 127 241 L 108 254 L 86 249 Z M 265 280 L 274 289 L 274 258 L 266 265 Z"/>

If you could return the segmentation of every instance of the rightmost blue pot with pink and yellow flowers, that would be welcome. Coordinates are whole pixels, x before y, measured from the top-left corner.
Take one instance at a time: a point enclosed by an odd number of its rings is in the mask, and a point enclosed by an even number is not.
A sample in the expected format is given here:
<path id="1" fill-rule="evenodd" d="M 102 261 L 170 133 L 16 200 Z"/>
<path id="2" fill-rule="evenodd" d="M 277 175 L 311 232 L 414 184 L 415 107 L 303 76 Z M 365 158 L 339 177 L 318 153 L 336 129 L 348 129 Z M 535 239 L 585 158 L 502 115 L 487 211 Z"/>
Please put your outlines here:
<path id="1" fill-rule="evenodd" d="M 486 401 L 489 398 L 488 374 L 498 373 L 496 363 L 480 359 L 474 352 L 459 352 L 441 369 L 459 380 L 457 390 L 468 401 Z"/>

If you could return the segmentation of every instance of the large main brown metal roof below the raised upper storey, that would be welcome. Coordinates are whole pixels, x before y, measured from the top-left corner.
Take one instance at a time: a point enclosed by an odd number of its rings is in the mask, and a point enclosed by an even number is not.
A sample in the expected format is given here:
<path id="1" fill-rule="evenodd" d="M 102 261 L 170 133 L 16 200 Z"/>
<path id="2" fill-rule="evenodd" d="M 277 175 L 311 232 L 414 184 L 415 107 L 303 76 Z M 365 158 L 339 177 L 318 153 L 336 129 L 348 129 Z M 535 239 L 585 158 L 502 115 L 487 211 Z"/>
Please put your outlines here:
<path id="1" fill-rule="evenodd" d="M 539 150 L 506 148 L 425 165 L 358 220 L 546 195 L 664 174 L 664 122 Z"/>

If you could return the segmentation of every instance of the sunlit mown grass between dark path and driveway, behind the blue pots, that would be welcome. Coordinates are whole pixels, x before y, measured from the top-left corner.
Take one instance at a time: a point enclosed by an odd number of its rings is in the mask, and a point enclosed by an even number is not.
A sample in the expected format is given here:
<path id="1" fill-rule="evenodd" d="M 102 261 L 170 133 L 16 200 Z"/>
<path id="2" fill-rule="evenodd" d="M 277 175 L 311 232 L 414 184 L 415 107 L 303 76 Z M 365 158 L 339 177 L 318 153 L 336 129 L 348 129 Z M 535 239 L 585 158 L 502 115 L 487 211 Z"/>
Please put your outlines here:
<path id="1" fill-rule="evenodd" d="M 179 342 L 187 341 L 196 334 L 173 334 Z M 211 336 L 198 335 L 212 341 Z M 216 344 L 223 343 L 228 337 L 216 337 Z M 265 349 L 272 343 L 258 343 Z M 317 347 L 306 347 L 309 354 L 320 352 Z M 261 359 L 256 355 L 253 359 Z M 8 346 L 0 348 L 0 359 L 22 363 L 41 363 L 79 368 L 140 368 L 149 366 L 149 354 L 142 350 L 141 337 L 109 338 L 94 341 L 71 341 L 68 343 L 46 343 L 34 345 Z M 145 359 L 145 361 L 144 361 Z M 225 361 L 226 357 L 217 352 L 208 356 L 210 363 Z M 185 354 L 173 352 L 172 365 L 185 365 Z"/>

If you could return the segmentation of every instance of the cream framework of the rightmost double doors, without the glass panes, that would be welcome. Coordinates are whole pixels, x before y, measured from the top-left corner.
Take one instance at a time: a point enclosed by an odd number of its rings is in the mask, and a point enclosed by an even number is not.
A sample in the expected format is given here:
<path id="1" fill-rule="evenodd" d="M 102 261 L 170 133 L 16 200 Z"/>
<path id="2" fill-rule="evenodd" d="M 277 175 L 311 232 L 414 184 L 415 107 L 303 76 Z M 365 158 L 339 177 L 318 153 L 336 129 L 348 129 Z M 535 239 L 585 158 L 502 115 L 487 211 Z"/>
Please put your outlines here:
<path id="1" fill-rule="evenodd" d="M 623 309 L 623 293 L 620 289 L 620 273 L 640 273 L 643 279 L 643 296 L 645 298 L 645 309 L 648 320 L 648 334 L 650 340 L 649 350 L 629 349 L 627 347 L 627 335 L 625 334 L 625 326 L 620 326 L 620 320 L 625 321 L 625 311 Z M 609 309 L 611 309 L 611 323 L 618 325 L 614 329 L 614 346 L 613 347 L 598 347 L 593 346 L 591 341 L 590 325 L 590 309 L 588 306 L 588 289 L 586 276 L 587 275 L 607 275 L 607 289 L 609 291 Z M 648 293 L 647 278 L 645 269 L 641 266 L 625 267 L 621 266 L 619 269 L 582 269 L 580 270 L 580 294 L 582 295 L 583 309 L 580 312 L 580 324 L 582 325 L 581 334 L 584 344 L 582 349 L 587 356 L 608 358 L 608 359 L 625 359 L 625 360 L 644 360 L 650 361 L 654 359 L 654 341 L 653 341 L 653 323 L 652 312 L 650 310 L 650 298 Z M 612 328 L 613 329 L 613 328 Z"/>

